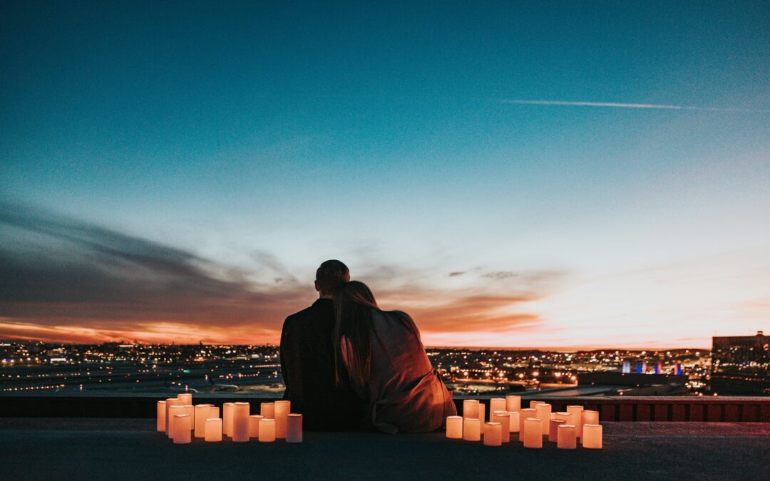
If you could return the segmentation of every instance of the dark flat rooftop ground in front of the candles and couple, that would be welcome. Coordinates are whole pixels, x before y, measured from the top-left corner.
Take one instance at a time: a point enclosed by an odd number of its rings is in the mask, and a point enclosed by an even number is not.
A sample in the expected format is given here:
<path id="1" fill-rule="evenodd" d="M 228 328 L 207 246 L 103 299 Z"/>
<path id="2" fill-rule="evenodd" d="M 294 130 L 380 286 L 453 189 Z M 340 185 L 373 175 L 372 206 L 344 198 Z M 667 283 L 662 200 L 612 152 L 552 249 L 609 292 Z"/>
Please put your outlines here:
<path id="1" fill-rule="evenodd" d="M 768 479 L 770 423 L 604 423 L 604 449 L 443 433 L 174 445 L 154 419 L 0 418 L 3 479 Z"/>

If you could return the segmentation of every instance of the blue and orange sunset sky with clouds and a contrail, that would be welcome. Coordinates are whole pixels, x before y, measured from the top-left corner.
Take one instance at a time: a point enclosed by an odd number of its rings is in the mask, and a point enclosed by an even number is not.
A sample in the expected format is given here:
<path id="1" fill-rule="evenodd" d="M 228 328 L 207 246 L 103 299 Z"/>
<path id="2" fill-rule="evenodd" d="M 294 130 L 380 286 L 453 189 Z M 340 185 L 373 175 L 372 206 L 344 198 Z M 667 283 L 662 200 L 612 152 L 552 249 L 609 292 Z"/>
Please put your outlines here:
<path id="1" fill-rule="evenodd" d="M 2 2 L 0 338 L 770 331 L 768 2 Z"/>

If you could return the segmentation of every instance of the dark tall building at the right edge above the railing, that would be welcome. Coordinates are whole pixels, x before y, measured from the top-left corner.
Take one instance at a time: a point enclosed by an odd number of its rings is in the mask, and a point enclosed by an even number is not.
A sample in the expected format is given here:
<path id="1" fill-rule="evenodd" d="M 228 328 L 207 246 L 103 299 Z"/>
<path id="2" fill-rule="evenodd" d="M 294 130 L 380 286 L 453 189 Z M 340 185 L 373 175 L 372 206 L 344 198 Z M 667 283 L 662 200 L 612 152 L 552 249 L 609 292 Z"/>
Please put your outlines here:
<path id="1" fill-rule="evenodd" d="M 715 337 L 711 345 L 711 391 L 770 395 L 770 336 Z"/>

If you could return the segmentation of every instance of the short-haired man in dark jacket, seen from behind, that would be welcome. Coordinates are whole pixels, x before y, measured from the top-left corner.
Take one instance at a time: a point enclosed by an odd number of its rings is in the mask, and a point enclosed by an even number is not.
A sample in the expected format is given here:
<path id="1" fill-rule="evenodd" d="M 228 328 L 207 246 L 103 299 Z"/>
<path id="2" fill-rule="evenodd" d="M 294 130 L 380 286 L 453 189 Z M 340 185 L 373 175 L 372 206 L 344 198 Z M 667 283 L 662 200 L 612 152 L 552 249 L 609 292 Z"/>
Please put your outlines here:
<path id="1" fill-rule="evenodd" d="M 360 426 L 363 401 L 336 386 L 334 369 L 333 292 L 350 281 L 350 271 L 338 260 L 316 270 L 319 299 L 313 306 L 286 318 L 281 332 L 281 372 L 293 413 L 302 413 L 308 430 L 333 431 Z"/>

